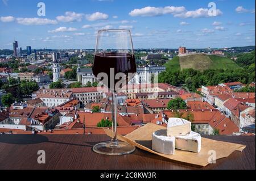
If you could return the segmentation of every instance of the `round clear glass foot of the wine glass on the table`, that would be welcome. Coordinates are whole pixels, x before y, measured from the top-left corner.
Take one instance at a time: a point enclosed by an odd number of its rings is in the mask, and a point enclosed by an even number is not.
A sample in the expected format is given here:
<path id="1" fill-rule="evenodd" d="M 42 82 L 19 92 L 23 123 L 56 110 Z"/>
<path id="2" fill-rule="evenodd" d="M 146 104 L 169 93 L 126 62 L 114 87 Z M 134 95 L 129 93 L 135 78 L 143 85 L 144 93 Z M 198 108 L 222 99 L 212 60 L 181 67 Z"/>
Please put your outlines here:
<path id="1" fill-rule="evenodd" d="M 93 151 L 104 155 L 125 155 L 133 153 L 135 147 L 122 141 L 118 141 L 117 145 L 113 145 L 112 142 L 109 141 L 101 142 L 93 146 Z"/>

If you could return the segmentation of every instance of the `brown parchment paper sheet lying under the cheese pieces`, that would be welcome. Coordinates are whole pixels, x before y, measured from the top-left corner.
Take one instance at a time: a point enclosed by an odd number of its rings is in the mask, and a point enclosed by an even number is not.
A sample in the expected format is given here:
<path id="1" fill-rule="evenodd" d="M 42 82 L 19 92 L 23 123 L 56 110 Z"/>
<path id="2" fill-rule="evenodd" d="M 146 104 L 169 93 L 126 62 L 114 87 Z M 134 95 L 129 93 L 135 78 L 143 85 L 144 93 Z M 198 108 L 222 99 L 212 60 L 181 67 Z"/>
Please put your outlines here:
<path id="1" fill-rule="evenodd" d="M 152 150 L 152 134 L 160 129 L 167 129 L 156 124 L 148 123 L 144 127 L 136 129 L 126 136 L 118 134 L 118 140 L 128 142 L 131 145 L 136 146 L 139 149 L 148 151 L 150 153 L 160 155 L 164 158 L 171 159 L 177 162 L 188 163 L 195 166 L 205 167 L 209 164 L 209 157 L 215 151 L 216 159 L 228 157 L 234 151 L 242 151 L 246 148 L 245 145 L 233 144 L 229 142 L 222 142 L 216 140 L 210 140 L 202 138 L 201 152 L 192 153 L 189 151 L 175 150 L 175 155 L 161 154 Z M 113 132 L 110 129 L 104 129 L 108 136 L 112 136 Z M 212 159 L 210 159 L 212 160 Z"/>

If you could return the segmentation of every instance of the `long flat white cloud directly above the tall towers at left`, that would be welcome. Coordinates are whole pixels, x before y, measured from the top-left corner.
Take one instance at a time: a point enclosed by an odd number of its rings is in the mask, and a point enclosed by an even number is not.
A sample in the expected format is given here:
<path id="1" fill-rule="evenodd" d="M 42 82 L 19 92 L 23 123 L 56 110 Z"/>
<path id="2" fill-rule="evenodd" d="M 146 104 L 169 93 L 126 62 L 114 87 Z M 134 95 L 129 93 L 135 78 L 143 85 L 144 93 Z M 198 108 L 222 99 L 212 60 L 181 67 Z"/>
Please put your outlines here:
<path id="1" fill-rule="evenodd" d="M 17 18 L 19 24 L 24 25 L 46 25 L 46 24 L 57 24 L 56 20 L 51 20 L 47 18 Z"/>

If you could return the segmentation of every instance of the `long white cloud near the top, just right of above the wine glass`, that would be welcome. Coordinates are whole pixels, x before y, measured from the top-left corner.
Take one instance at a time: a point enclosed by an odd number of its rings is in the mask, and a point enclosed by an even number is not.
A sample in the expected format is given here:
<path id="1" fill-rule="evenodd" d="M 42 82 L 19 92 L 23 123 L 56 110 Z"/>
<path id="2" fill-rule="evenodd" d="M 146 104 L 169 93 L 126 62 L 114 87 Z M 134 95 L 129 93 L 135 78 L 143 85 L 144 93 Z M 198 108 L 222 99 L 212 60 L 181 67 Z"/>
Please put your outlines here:
<path id="1" fill-rule="evenodd" d="M 151 7 L 147 6 L 142 9 L 134 9 L 129 13 L 130 16 L 159 16 L 164 14 L 180 14 L 185 11 L 185 7 Z"/>

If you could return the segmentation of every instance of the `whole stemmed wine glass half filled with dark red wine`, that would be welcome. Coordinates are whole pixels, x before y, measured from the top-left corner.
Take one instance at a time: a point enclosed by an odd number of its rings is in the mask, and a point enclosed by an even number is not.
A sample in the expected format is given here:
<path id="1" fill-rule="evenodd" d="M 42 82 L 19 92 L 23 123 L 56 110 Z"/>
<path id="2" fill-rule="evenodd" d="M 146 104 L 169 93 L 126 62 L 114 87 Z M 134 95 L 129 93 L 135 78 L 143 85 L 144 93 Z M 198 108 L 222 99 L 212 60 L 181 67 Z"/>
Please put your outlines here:
<path id="1" fill-rule="evenodd" d="M 117 140 L 117 95 L 137 72 L 130 30 L 98 31 L 93 74 L 112 93 L 112 140 L 93 147 L 99 154 L 124 155 L 135 147 Z"/>

